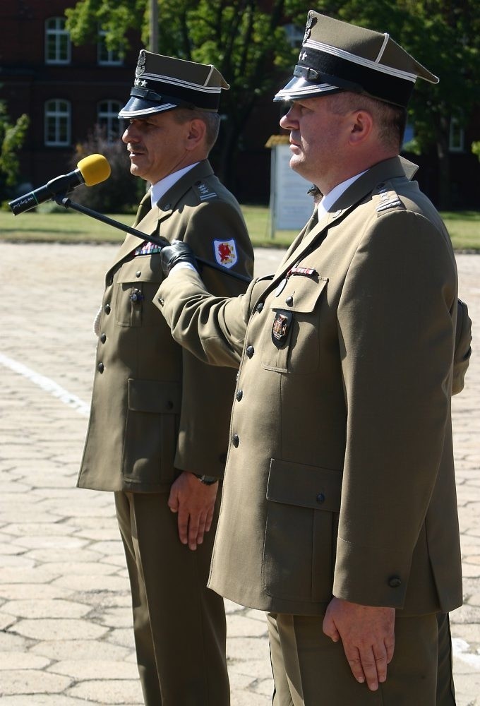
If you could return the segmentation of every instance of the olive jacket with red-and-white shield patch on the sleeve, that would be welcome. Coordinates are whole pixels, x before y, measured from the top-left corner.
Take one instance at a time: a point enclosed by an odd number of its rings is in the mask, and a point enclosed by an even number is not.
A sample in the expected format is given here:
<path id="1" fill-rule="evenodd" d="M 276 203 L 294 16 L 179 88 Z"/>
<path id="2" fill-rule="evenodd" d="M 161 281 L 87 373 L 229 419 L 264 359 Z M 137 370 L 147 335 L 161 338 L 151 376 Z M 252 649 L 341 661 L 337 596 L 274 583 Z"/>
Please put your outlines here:
<path id="1" fill-rule="evenodd" d="M 188 241 L 197 256 L 214 263 L 221 263 L 220 252 L 227 266 L 220 273 L 205 266 L 205 285 L 224 296 L 245 291 L 246 284 L 229 275 L 251 275 L 244 218 L 207 161 L 148 206 L 137 229 Z M 179 470 L 224 472 L 234 371 L 200 363 L 174 342 L 152 304 L 162 277 L 158 249 L 126 237 L 105 279 L 80 487 L 164 491 Z"/>

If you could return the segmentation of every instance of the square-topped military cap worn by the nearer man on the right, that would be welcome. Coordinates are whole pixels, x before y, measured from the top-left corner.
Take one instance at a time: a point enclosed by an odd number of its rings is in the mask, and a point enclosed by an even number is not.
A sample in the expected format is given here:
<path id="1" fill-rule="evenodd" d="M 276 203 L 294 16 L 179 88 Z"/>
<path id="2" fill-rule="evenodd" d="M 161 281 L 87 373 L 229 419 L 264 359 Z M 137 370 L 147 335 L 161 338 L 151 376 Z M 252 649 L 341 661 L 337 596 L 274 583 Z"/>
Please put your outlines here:
<path id="1" fill-rule="evenodd" d="M 386 32 L 350 25 L 311 10 L 294 77 L 274 101 L 348 90 L 407 107 L 417 78 L 438 83 Z"/>

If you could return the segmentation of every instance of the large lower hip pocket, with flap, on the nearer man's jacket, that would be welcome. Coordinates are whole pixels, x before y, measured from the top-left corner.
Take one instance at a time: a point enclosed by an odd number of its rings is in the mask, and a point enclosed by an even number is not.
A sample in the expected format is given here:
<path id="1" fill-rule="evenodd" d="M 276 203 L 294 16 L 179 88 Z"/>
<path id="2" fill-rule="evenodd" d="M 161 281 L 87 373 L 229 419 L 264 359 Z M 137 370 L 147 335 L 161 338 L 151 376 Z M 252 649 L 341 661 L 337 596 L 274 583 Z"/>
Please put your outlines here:
<path id="1" fill-rule="evenodd" d="M 270 596 L 332 597 L 342 472 L 272 459 L 262 576 Z"/>

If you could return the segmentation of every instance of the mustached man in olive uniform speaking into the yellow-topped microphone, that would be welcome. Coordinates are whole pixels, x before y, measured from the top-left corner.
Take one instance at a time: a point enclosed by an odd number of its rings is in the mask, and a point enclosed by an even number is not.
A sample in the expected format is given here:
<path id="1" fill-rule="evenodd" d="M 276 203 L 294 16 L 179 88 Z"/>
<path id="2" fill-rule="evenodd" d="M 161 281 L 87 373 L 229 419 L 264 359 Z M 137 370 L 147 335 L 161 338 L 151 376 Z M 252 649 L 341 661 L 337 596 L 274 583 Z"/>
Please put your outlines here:
<path id="1" fill-rule="evenodd" d="M 141 51 L 119 116 L 131 172 L 152 184 L 136 228 L 185 240 L 205 285 L 236 296 L 253 251 L 238 203 L 207 160 L 220 92 L 213 66 Z M 200 363 L 152 305 L 160 247 L 128 236 L 105 280 L 78 486 L 114 491 L 148 706 L 225 706 L 223 600 L 207 589 L 235 373 Z"/>

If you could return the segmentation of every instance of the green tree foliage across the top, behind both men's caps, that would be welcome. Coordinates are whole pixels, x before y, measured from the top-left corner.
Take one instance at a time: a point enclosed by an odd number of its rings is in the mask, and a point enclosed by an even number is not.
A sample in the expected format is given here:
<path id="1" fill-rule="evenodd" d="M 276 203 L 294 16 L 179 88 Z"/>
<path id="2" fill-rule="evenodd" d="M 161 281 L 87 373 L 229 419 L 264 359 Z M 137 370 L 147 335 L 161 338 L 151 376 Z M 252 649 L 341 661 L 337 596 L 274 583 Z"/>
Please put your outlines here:
<path id="1" fill-rule="evenodd" d="M 122 49 L 126 32 L 143 32 L 148 45 L 149 0 L 80 0 L 66 11 L 74 42 L 107 30 L 107 46 Z M 480 3 L 478 0 L 316 0 L 316 10 L 389 32 L 417 61 L 440 77 L 416 83 L 409 106 L 416 152 L 436 150 L 448 205 L 450 119 L 468 124 L 480 104 Z M 260 95 L 273 95 L 294 66 L 298 47 L 283 25 L 304 27 L 300 0 L 159 0 L 160 52 L 215 64 L 231 84 L 222 98 L 222 155 L 232 162 L 239 136 Z M 225 174 L 223 174 L 225 176 Z"/>

